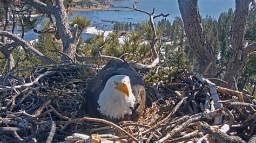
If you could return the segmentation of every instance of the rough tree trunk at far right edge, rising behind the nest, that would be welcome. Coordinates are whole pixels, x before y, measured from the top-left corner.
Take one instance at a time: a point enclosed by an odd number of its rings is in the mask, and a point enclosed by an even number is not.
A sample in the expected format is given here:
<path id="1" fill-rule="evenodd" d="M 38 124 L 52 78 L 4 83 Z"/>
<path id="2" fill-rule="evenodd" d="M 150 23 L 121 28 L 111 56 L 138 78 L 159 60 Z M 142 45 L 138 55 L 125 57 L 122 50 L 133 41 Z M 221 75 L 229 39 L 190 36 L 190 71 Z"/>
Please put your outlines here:
<path id="1" fill-rule="evenodd" d="M 228 82 L 228 85 L 222 85 L 227 88 L 234 89 L 234 80 L 238 82 L 242 69 L 245 67 L 245 63 L 248 59 L 248 54 L 255 51 L 255 44 L 253 46 L 245 47 L 245 26 L 247 18 L 250 13 L 249 4 L 252 0 L 236 0 L 235 1 L 235 16 L 232 24 L 232 58 L 228 63 L 224 81 Z M 255 0 L 254 0 L 255 2 Z"/>

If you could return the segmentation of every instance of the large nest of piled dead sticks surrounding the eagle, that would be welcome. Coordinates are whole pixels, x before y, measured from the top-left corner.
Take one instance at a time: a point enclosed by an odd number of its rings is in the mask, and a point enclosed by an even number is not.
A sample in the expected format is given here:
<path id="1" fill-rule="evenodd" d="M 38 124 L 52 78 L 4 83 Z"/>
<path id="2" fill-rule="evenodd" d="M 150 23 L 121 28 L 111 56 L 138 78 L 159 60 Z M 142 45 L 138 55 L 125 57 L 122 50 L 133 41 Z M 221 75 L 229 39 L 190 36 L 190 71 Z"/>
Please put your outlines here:
<path id="1" fill-rule="evenodd" d="M 98 69 L 45 66 L 2 76 L 0 141 L 255 141 L 253 97 L 183 69 L 169 83 L 146 86 L 147 106 L 136 123 L 87 117 L 83 96 Z M 22 76 L 24 71 L 29 76 Z"/>

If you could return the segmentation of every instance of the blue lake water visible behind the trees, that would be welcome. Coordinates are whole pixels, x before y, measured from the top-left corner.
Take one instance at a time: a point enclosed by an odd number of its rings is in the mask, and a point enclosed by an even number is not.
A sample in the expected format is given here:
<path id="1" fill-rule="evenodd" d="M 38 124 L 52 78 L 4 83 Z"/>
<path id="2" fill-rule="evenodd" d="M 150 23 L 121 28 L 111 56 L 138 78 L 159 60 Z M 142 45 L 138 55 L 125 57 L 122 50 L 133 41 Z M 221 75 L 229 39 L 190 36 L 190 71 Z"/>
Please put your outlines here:
<path id="1" fill-rule="evenodd" d="M 115 6 L 129 6 L 132 8 L 134 4 L 134 0 L 130 1 L 118 1 L 118 2 L 110 2 Z M 211 15 L 214 18 L 218 18 L 221 12 L 225 12 L 228 9 L 235 8 L 234 0 L 198 0 L 199 11 L 203 17 L 206 15 Z M 173 21 L 175 17 L 181 16 L 179 11 L 178 0 L 142 0 L 138 3 L 137 8 L 145 11 L 152 12 L 153 6 L 155 6 L 155 13 L 170 13 L 167 19 L 170 22 Z M 124 10 L 122 8 L 114 8 L 119 10 Z M 127 10 L 127 9 L 126 9 Z M 118 22 L 128 22 L 128 23 L 139 23 L 142 20 L 149 19 L 145 13 L 141 13 L 138 11 L 75 11 L 70 15 L 70 18 L 73 16 L 82 15 L 89 18 L 92 18 L 92 26 L 96 26 L 98 30 L 109 31 L 112 30 L 113 23 L 110 22 L 102 22 L 102 20 L 112 20 Z M 161 20 L 161 17 L 156 18 L 155 22 Z M 42 26 L 42 25 L 40 25 Z M 40 29 L 38 27 L 38 29 Z M 89 34 L 83 34 L 83 39 L 87 39 L 91 37 Z M 33 40 L 37 38 L 37 34 L 28 32 L 25 34 L 24 39 Z"/>

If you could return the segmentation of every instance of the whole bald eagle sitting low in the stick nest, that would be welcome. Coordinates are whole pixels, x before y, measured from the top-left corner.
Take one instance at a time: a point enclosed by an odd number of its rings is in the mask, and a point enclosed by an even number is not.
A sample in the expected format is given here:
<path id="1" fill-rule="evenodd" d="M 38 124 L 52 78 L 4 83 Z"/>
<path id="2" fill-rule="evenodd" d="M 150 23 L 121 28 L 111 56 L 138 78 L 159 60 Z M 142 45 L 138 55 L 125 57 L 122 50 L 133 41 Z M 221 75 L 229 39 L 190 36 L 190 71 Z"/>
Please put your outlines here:
<path id="1" fill-rule="evenodd" d="M 137 121 L 145 109 L 144 82 L 127 62 L 111 60 L 90 80 L 85 99 L 90 117 Z"/>

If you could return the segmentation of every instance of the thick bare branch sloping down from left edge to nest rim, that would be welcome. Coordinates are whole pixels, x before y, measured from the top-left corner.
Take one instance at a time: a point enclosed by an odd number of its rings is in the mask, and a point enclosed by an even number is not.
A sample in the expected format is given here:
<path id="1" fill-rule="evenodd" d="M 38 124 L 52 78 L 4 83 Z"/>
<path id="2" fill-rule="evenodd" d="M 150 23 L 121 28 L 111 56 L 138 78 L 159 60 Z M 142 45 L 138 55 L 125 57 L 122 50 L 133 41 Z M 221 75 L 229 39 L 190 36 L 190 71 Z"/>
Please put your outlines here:
<path id="1" fill-rule="evenodd" d="M 50 59 L 48 56 L 45 56 L 44 54 L 37 51 L 37 49 L 33 48 L 27 41 L 23 40 L 22 38 L 19 38 L 17 35 L 12 34 L 10 32 L 6 32 L 6 31 L 0 31 L 0 35 L 14 40 L 19 45 L 23 46 L 23 48 L 26 49 L 26 51 L 35 55 L 39 60 L 43 61 L 44 63 L 46 64 L 56 63 L 55 61 Z"/>

